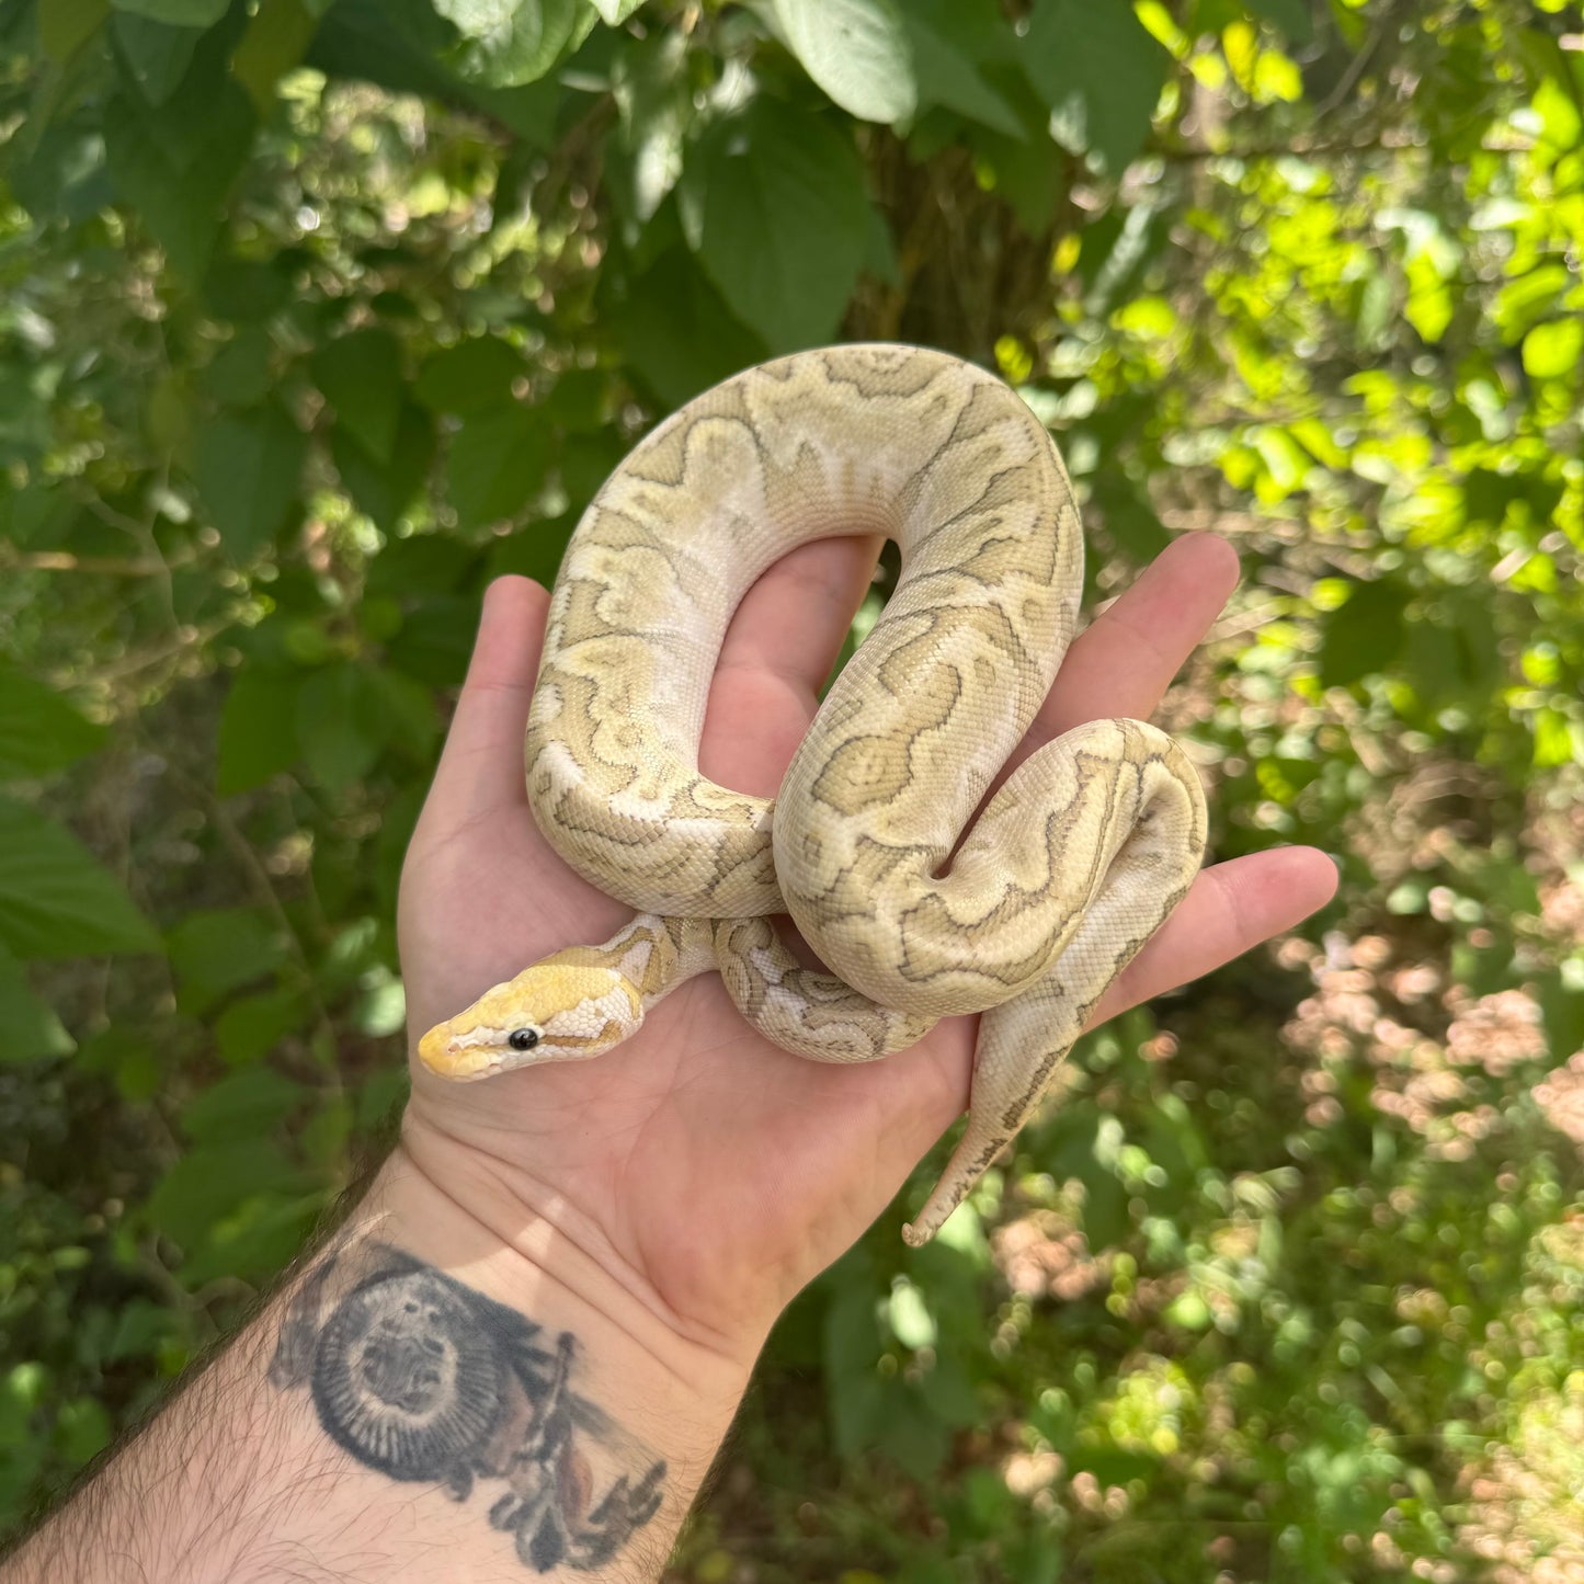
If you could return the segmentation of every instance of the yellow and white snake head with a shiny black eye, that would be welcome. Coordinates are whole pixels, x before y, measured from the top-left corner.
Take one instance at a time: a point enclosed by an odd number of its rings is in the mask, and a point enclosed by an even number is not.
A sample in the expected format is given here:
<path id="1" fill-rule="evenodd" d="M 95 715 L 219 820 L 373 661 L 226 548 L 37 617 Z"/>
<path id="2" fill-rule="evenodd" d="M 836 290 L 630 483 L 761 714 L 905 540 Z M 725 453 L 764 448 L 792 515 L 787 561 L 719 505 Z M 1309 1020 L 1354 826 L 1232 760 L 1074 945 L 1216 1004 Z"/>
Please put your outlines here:
<path id="1" fill-rule="evenodd" d="M 643 998 L 624 974 L 546 958 L 431 1028 L 418 1041 L 418 1060 L 445 1079 L 488 1079 L 602 1055 L 642 1022 Z"/>

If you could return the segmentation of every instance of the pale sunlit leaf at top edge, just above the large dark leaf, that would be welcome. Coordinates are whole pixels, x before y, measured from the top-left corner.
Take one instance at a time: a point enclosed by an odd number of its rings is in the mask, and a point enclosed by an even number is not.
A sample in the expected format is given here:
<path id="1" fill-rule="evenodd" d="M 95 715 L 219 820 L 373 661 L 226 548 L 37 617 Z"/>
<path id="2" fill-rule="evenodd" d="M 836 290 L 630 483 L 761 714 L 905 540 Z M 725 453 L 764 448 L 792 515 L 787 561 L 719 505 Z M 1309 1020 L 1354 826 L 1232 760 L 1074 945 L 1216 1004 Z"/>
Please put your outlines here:
<path id="1" fill-rule="evenodd" d="M 906 120 L 917 103 L 908 30 L 892 0 L 771 0 L 803 70 L 849 116 Z"/>

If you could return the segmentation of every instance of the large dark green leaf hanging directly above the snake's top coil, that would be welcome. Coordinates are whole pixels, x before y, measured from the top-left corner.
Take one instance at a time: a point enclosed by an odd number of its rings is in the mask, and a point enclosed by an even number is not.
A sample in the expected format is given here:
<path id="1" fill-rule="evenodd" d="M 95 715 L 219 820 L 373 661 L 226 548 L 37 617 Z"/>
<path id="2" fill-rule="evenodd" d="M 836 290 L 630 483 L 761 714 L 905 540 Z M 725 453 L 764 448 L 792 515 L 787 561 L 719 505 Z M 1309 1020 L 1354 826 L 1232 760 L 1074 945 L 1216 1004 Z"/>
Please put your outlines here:
<path id="1" fill-rule="evenodd" d="M 694 158 L 703 188 L 699 258 L 732 312 L 771 352 L 828 341 L 870 231 L 852 141 L 825 120 L 760 98 L 711 127 Z"/>

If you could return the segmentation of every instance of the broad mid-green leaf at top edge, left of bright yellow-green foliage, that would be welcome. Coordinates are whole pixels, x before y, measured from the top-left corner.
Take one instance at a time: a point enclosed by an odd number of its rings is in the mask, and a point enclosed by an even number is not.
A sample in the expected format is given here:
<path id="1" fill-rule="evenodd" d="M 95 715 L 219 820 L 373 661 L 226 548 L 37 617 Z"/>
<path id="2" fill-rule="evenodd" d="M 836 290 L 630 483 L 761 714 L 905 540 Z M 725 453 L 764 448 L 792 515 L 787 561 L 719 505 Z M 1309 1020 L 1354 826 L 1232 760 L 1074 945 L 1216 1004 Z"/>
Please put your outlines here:
<path id="1" fill-rule="evenodd" d="M 1036 0 L 1019 51 L 1072 152 L 1120 176 L 1150 135 L 1171 55 L 1126 0 Z"/>

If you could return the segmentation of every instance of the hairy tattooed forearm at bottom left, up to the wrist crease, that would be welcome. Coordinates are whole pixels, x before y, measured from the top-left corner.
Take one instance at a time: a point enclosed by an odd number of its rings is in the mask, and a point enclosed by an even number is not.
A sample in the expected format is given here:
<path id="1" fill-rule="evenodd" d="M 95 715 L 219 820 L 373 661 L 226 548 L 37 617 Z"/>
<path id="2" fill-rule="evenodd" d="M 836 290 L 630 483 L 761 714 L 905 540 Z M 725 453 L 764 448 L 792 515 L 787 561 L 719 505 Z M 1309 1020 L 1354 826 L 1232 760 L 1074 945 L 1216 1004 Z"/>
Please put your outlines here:
<path id="1" fill-rule="evenodd" d="M 657 1578 L 746 1365 L 478 1210 L 398 1152 L 0 1581 Z"/>

